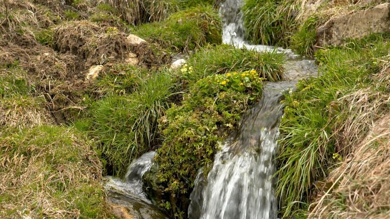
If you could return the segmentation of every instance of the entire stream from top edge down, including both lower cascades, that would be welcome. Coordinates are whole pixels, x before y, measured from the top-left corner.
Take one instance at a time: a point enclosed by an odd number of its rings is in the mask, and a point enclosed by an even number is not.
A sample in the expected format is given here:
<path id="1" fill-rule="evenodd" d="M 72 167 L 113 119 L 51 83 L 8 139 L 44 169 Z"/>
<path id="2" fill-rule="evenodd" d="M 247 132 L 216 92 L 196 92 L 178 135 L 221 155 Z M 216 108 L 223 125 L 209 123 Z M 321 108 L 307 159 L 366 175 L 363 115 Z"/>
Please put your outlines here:
<path id="1" fill-rule="evenodd" d="M 283 115 L 280 100 L 302 78 L 317 76 L 314 60 L 305 59 L 289 49 L 251 45 L 244 39 L 243 0 L 226 0 L 220 8 L 224 23 L 223 43 L 258 52 L 284 53 L 286 81 L 268 82 L 262 99 L 242 117 L 240 126 L 216 154 L 206 177 L 199 170 L 190 195 L 188 218 L 276 218 L 277 200 L 272 175 L 278 152 L 279 122 Z M 108 202 L 124 207 L 133 218 L 167 218 L 152 206 L 142 191 L 142 176 L 149 171 L 155 152 L 134 160 L 124 180 L 108 177 Z"/>

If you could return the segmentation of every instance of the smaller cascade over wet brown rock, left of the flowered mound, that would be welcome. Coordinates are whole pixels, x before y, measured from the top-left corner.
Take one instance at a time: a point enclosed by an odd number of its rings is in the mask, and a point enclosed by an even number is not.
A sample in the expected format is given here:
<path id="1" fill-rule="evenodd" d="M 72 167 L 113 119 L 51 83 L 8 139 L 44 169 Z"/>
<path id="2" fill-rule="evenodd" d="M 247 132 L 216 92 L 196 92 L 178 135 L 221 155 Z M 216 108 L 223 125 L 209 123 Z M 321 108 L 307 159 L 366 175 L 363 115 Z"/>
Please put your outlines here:
<path id="1" fill-rule="evenodd" d="M 143 154 L 131 162 L 124 180 L 108 177 L 105 190 L 108 191 L 107 202 L 125 207 L 132 218 L 167 218 L 142 190 L 142 176 L 150 170 L 156 152 Z"/>

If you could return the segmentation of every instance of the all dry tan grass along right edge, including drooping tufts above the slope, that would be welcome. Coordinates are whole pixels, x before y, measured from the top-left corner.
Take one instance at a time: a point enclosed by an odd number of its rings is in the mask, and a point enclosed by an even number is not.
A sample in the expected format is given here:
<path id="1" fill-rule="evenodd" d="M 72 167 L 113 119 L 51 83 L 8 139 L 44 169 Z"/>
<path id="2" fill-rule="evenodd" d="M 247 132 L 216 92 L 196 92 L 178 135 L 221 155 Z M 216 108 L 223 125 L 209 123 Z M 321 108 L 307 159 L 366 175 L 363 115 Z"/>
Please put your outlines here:
<path id="1" fill-rule="evenodd" d="M 343 162 L 329 174 L 311 204 L 310 218 L 390 215 L 390 63 L 374 75 L 374 81 L 385 91 L 360 89 L 339 99 L 349 115 L 334 130 L 339 133 L 336 151 Z"/>

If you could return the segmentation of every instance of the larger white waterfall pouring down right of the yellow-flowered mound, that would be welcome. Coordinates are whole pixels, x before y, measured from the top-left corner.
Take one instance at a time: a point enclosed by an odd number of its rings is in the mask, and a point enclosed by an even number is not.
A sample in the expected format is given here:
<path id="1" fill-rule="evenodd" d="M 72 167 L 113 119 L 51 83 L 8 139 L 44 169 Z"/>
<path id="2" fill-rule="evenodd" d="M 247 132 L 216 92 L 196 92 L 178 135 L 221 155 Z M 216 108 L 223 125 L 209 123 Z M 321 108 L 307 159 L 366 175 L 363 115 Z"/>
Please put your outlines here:
<path id="1" fill-rule="evenodd" d="M 207 180 L 201 169 L 191 193 L 189 218 L 276 218 L 273 160 L 282 116 L 282 91 L 294 82 L 268 83 L 261 101 L 215 157 Z"/>

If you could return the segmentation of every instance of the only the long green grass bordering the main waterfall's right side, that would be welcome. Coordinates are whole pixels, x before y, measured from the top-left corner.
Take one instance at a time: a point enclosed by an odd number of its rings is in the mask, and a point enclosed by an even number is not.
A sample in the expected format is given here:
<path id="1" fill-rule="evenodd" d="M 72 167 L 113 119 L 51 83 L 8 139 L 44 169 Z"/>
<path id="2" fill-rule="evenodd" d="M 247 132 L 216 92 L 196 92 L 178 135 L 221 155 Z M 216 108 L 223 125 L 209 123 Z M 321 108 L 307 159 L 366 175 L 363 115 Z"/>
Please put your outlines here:
<path id="1" fill-rule="evenodd" d="M 320 50 L 316 57 L 322 75 L 300 81 L 297 90 L 286 96 L 276 174 L 283 216 L 306 212 L 313 183 L 326 177 L 335 163 L 337 133 L 333 130 L 350 116 L 340 113 L 337 99 L 360 88 L 376 87 L 371 76 L 386 60 L 389 45 L 388 38 L 376 35 L 351 42 L 347 48 Z"/>

